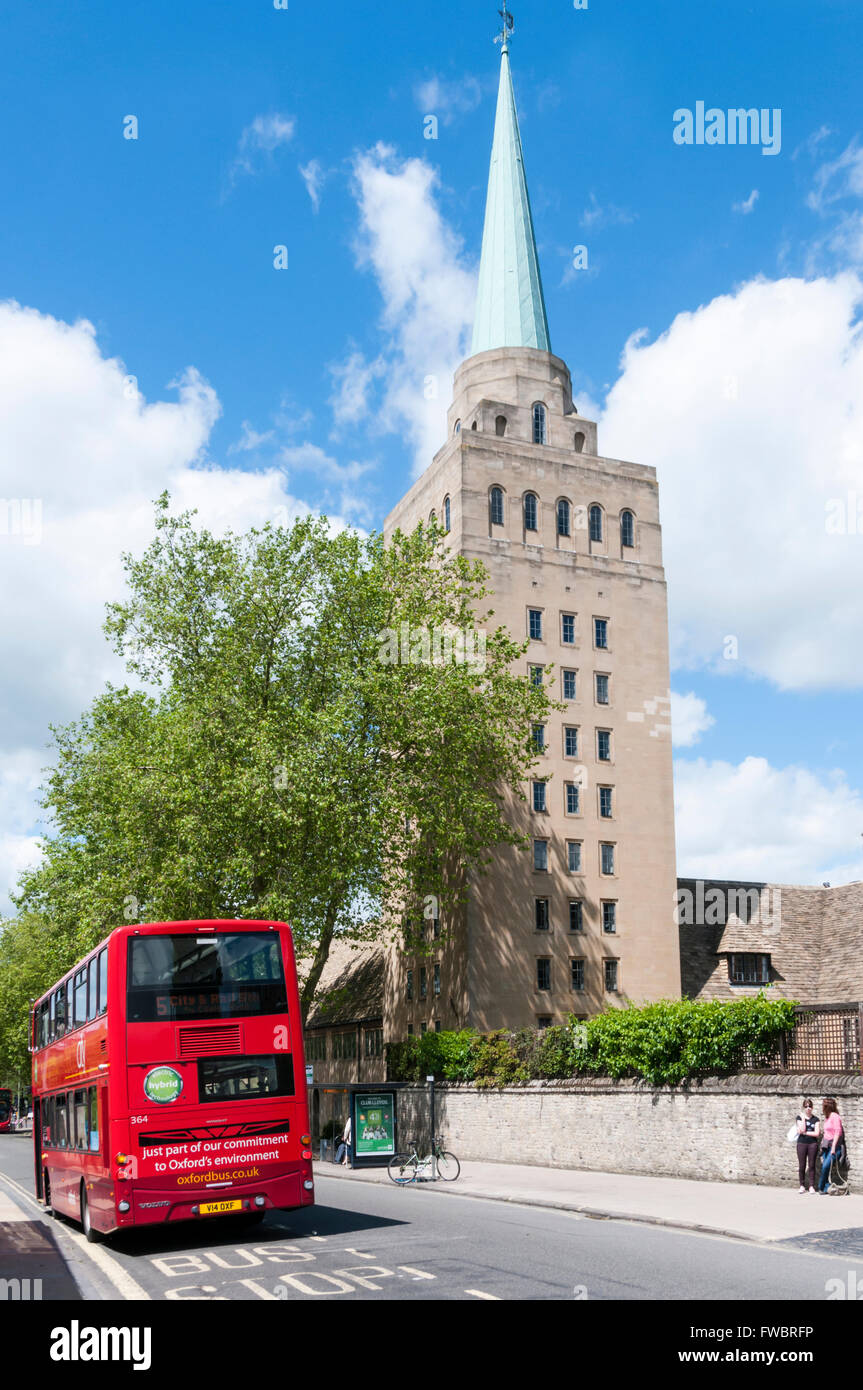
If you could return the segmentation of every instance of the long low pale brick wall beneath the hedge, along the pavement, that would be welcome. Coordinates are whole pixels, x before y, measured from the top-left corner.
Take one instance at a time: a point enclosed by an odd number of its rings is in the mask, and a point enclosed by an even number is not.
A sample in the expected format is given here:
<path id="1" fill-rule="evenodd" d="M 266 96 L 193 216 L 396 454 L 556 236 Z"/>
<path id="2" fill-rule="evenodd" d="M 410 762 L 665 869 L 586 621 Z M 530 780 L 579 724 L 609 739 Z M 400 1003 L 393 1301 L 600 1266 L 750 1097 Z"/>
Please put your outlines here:
<path id="1" fill-rule="evenodd" d="M 428 1140 L 428 1091 L 397 1094 L 399 1141 Z M 732 1076 L 689 1087 L 584 1079 L 502 1091 L 435 1088 L 435 1129 L 459 1158 L 796 1186 L 785 1134 L 812 1097 L 834 1095 L 863 1182 L 863 1077 Z M 857 1166 L 859 1165 L 859 1166 Z"/>

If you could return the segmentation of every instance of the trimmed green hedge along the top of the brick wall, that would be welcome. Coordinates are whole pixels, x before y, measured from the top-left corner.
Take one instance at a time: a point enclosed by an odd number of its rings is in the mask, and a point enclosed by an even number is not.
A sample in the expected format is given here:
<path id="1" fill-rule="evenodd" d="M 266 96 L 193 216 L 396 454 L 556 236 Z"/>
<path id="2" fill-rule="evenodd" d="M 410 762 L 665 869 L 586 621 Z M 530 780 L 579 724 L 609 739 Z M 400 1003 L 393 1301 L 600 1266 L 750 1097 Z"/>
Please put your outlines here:
<path id="1" fill-rule="evenodd" d="M 663 999 L 643 1008 L 606 1009 L 584 1023 L 477 1033 L 424 1033 L 386 1045 L 389 1080 L 472 1081 L 518 1086 L 575 1076 L 642 1077 L 680 1086 L 699 1076 L 728 1076 L 749 1065 L 769 1066 L 794 1026 L 788 999 Z"/>

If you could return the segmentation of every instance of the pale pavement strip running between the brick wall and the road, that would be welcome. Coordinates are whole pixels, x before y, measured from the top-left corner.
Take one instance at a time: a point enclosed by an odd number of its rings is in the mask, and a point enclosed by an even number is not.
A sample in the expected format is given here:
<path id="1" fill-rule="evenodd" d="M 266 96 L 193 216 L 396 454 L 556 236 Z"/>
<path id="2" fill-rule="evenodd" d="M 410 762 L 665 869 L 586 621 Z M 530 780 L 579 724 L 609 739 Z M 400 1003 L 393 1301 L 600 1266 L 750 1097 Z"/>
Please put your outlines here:
<path id="1" fill-rule="evenodd" d="M 385 1168 L 315 1162 L 321 1177 L 389 1183 Z M 785 1241 L 821 1232 L 863 1233 L 863 1197 L 820 1197 L 788 1187 L 698 1183 L 682 1177 L 586 1173 L 521 1163 L 461 1163 L 454 1183 L 424 1184 L 442 1195 L 479 1197 L 523 1207 L 552 1207 L 584 1216 L 646 1222 L 738 1240 Z"/>

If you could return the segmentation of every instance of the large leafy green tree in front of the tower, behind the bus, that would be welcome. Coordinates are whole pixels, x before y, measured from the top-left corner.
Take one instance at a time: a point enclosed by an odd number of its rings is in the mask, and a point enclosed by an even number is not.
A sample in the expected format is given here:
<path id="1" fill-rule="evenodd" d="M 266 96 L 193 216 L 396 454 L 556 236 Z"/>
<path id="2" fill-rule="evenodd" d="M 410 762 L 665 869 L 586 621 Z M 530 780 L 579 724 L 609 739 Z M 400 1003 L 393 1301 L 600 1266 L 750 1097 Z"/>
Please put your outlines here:
<path id="1" fill-rule="evenodd" d="M 135 685 L 54 730 L 53 833 L 17 898 L 74 955 L 124 920 L 283 917 L 306 1013 L 334 935 L 391 931 L 428 894 L 453 909 L 493 847 L 523 844 L 504 798 L 549 696 L 436 528 L 217 538 L 163 496 L 124 563 L 106 632 Z M 435 664 L 414 638 L 393 660 L 403 626 L 482 628 L 484 659 Z"/>

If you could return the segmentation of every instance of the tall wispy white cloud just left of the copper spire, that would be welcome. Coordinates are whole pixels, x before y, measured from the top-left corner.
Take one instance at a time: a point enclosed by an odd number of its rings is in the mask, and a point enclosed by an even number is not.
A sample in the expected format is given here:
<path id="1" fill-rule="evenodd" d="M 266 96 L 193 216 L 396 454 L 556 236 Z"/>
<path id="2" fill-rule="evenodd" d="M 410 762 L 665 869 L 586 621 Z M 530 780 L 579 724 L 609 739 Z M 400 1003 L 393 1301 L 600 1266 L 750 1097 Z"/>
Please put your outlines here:
<path id="1" fill-rule="evenodd" d="M 421 473 L 446 438 L 453 371 L 470 350 L 477 278 L 441 215 L 438 174 L 424 160 L 399 160 L 377 145 L 354 160 L 353 188 L 357 260 L 375 274 L 389 335 L 379 427 L 407 434 Z"/>

